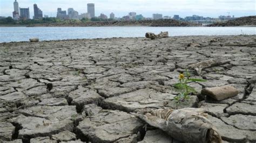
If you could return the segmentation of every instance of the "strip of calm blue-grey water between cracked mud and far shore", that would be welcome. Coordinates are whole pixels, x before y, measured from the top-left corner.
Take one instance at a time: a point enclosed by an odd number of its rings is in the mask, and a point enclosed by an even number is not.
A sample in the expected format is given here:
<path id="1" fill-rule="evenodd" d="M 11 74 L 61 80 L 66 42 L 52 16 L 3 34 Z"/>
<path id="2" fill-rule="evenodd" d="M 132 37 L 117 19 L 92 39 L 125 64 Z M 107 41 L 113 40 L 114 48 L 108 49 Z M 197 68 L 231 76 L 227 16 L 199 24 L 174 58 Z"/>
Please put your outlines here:
<path id="1" fill-rule="evenodd" d="M 92 39 L 112 37 L 144 37 L 146 32 L 168 31 L 181 35 L 256 34 L 256 27 L 0 27 L 0 42 L 40 40 Z"/>

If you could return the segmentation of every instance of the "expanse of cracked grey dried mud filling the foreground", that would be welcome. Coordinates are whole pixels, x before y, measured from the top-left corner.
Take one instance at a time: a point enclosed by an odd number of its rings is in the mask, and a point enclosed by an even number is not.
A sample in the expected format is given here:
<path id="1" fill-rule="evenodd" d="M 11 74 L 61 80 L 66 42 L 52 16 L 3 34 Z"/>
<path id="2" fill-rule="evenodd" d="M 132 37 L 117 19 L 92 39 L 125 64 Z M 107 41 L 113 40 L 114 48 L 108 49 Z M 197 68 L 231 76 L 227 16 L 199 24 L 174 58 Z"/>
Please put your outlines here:
<path id="1" fill-rule="evenodd" d="M 211 59 L 230 63 L 191 70 L 207 82 L 177 104 L 179 73 Z M 178 142 L 130 114 L 164 107 L 206 108 L 223 140 L 256 141 L 255 35 L 2 43 L 0 61 L 0 142 Z M 227 84 L 239 95 L 200 94 Z"/>

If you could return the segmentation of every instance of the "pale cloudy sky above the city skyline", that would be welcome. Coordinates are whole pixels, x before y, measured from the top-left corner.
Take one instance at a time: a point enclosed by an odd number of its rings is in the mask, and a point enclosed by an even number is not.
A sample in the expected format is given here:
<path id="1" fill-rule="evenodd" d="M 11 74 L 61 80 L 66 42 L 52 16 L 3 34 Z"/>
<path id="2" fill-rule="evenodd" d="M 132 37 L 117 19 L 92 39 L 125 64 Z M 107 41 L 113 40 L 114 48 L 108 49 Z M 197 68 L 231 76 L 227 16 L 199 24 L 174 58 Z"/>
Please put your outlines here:
<path id="1" fill-rule="evenodd" d="M 0 0 L 0 16 L 12 16 L 14 0 Z M 200 15 L 218 17 L 230 15 L 235 17 L 255 16 L 256 0 L 17 0 L 19 7 L 30 8 L 33 16 L 33 4 L 43 11 L 43 15 L 56 17 L 57 8 L 73 8 L 80 13 L 87 12 L 87 3 L 95 3 L 95 13 L 104 13 L 109 17 L 114 12 L 116 17 L 123 17 L 129 12 L 137 12 L 145 17 L 152 13 L 163 16 L 180 15 L 181 17 Z"/>

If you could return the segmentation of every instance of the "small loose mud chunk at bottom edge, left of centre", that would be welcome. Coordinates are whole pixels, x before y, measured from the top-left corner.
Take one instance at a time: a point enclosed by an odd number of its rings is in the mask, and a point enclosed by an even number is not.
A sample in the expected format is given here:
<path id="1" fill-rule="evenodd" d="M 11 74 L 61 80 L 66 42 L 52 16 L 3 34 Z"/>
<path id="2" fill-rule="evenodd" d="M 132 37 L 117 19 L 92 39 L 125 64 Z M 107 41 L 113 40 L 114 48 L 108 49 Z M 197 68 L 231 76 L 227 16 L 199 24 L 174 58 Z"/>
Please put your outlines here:
<path id="1" fill-rule="evenodd" d="M 58 142 L 60 141 L 71 141 L 71 140 L 76 140 L 76 134 L 72 133 L 70 131 L 63 131 L 58 134 L 53 134 L 52 135 L 52 140 L 57 140 Z"/>

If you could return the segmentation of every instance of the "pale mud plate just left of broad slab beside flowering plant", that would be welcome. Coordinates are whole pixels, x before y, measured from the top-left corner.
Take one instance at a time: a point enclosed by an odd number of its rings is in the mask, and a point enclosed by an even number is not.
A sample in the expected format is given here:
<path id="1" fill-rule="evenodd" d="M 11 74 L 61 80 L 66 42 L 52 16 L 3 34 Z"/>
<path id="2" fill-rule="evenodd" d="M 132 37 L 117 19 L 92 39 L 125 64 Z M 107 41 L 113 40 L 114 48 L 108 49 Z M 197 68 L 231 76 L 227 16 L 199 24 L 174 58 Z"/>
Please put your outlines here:
<path id="1" fill-rule="evenodd" d="M 79 86 L 77 90 L 70 92 L 69 99 L 72 105 L 76 105 L 77 109 L 82 110 L 83 105 L 98 104 L 104 98 L 97 94 L 97 91 Z"/>

